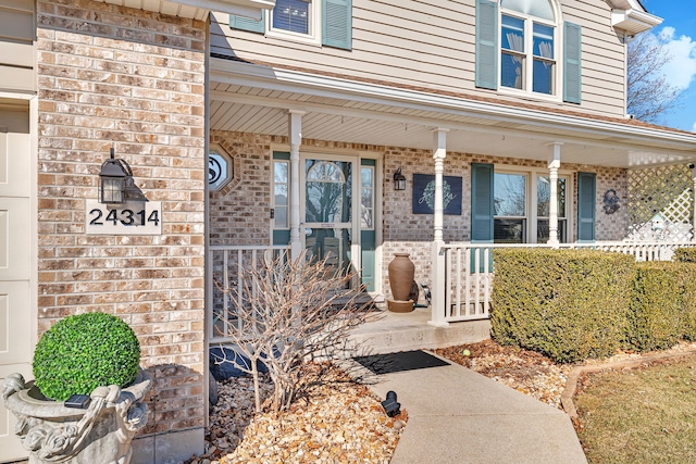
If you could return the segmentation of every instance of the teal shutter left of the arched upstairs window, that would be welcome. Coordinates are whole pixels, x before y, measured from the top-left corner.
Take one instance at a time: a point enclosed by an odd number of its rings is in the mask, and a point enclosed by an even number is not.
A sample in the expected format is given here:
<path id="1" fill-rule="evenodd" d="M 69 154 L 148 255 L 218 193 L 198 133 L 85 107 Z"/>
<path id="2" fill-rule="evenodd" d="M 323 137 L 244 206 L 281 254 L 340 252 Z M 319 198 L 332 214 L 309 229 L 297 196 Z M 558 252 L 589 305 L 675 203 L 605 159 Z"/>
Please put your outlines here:
<path id="1" fill-rule="evenodd" d="M 498 88 L 498 3 L 476 0 L 476 87 Z"/>

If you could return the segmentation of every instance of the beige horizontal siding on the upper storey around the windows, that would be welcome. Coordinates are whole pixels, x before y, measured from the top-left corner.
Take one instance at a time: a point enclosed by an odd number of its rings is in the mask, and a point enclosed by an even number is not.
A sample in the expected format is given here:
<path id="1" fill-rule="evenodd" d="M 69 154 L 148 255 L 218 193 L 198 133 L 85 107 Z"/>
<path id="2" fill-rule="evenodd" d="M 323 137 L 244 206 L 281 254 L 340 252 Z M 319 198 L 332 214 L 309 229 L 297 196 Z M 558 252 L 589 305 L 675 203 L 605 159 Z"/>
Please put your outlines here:
<path id="1" fill-rule="evenodd" d="M 228 16 L 216 13 L 211 52 L 346 77 L 517 99 L 474 86 L 475 1 L 433 3 L 353 0 L 350 51 L 233 30 Z M 561 18 L 582 26 L 582 104 L 561 103 L 560 98 L 539 99 L 539 104 L 623 116 L 625 49 L 611 27 L 609 7 L 600 0 L 563 0 Z"/>

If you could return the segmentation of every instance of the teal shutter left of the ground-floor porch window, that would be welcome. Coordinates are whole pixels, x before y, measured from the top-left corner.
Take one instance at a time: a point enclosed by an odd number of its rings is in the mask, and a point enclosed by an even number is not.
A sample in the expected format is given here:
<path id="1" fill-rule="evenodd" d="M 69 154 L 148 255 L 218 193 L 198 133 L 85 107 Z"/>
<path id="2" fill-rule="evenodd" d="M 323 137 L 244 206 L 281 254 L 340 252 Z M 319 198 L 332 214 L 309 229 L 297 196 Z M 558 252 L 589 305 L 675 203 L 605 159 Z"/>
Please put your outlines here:
<path id="1" fill-rule="evenodd" d="M 493 243 L 493 164 L 471 163 L 471 241 Z"/>

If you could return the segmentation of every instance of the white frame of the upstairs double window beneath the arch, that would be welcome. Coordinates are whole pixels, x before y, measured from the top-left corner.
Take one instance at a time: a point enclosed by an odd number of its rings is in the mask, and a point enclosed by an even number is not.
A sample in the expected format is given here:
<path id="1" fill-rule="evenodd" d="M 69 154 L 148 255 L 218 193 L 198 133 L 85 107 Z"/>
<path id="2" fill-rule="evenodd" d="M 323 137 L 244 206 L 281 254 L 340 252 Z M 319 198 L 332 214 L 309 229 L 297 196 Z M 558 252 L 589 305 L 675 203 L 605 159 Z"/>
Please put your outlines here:
<path id="1" fill-rule="evenodd" d="M 556 9 L 556 4 L 555 2 L 552 2 L 552 7 L 554 7 L 554 15 L 558 18 L 559 17 L 559 13 Z M 501 54 L 502 52 L 502 16 L 512 16 L 512 17 L 517 17 L 519 20 L 523 20 L 524 21 L 524 50 L 529 50 L 525 53 L 525 70 L 524 70 L 524 80 L 525 80 L 525 87 L 527 87 L 526 89 L 515 89 L 512 87 L 506 87 L 502 85 L 502 81 L 500 79 L 500 75 L 498 75 L 498 79 L 499 79 L 499 84 L 498 84 L 498 92 L 500 95 L 507 95 L 507 96 L 515 96 L 515 97 L 525 97 L 525 98 L 531 98 L 533 100 L 542 100 L 542 101 L 552 101 L 552 102 L 559 102 L 562 101 L 563 99 L 563 59 L 562 59 L 562 43 L 563 43 L 563 36 L 562 36 L 562 22 L 561 21 L 556 21 L 556 22 L 551 22 L 551 21 L 547 21 L 547 20 L 542 20 L 540 17 L 536 17 L 536 16 L 530 16 L 530 15 L 524 15 L 521 14 L 519 11 L 514 11 L 514 10 L 506 10 L 502 7 L 500 7 L 498 9 L 498 55 Z M 538 23 L 538 24 L 543 24 L 545 26 L 549 26 L 551 28 L 554 28 L 554 61 L 555 61 L 555 73 L 554 73 L 554 81 L 552 81 L 552 89 L 554 92 L 551 93 L 540 93 L 540 92 L 535 92 L 532 90 L 532 77 L 533 77 L 533 66 L 534 66 L 534 23 Z M 498 58 L 499 59 L 499 58 Z M 502 70 L 502 63 L 498 64 L 498 74 L 501 73 Z"/>

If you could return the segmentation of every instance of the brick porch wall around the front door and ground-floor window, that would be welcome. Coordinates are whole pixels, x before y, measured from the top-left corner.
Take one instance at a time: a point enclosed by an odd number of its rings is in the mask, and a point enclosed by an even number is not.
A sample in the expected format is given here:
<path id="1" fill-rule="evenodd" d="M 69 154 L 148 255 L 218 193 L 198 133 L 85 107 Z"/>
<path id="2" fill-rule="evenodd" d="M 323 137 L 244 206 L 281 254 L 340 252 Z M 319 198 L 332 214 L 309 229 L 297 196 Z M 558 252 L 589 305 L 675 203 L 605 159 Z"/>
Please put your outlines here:
<path id="1" fill-rule="evenodd" d="M 268 209 L 271 204 L 271 160 L 273 147 L 286 147 L 286 137 L 272 137 L 260 134 L 239 134 L 213 131 L 211 143 L 219 143 L 228 153 L 237 156 L 241 166 L 238 183 L 229 184 L 220 192 L 210 192 L 211 243 L 213 244 L 269 244 L 271 242 Z M 387 266 L 396 253 L 408 252 L 415 264 L 415 280 L 432 286 L 432 240 L 433 216 L 413 214 L 413 174 L 433 174 L 432 152 L 399 147 L 364 146 L 349 142 L 328 142 L 322 140 L 302 140 L 300 151 L 335 153 L 336 150 L 347 154 L 370 152 L 383 156 L 382 184 L 382 289 L 386 298 L 390 298 Z M 471 226 L 471 163 L 492 163 L 507 168 L 535 170 L 546 172 L 545 163 L 512 158 L 482 156 L 468 153 L 447 152 L 444 162 L 445 176 L 462 177 L 461 215 L 445 215 L 443 236 L 446 242 L 470 240 Z M 407 178 L 407 189 L 395 191 L 391 177 L 397 168 L 401 168 Z M 596 239 L 621 240 L 626 237 L 629 212 L 626 203 L 621 203 L 618 212 L 608 215 L 602 210 L 604 192 L 614 189 L 620 199 L 627 198 L 627 172 L 622 168 L 605 168 L 597 166 L 561 164 L 561 170 L 571 174 L 573 186 L 576 186 L 576 172 L 588 172 L 597 175 L 596 191 Z M 261 193 L 262 192 L 262 193 Z M 573 209 L 569 213 L 572 227 L 569 241 L 575 241 L 576 187 L 571 191 Z M 248 213 L 245 213 L 248 212 Z M 249 230 L 257 231 L 249 234 Z"/>

